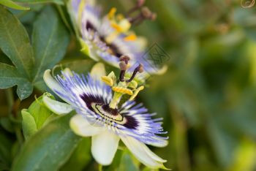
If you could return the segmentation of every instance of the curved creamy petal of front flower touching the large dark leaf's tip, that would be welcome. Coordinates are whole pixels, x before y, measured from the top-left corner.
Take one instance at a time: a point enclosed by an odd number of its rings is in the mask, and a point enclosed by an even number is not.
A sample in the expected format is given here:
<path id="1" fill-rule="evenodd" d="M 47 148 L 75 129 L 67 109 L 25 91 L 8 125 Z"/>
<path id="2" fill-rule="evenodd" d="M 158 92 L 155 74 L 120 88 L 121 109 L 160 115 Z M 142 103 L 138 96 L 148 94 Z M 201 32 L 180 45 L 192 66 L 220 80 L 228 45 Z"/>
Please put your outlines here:
<path id="1" fill-rule="evenodd" d="M 89 123 L 83 115 L 74 115 L 69 122 L 70 128 L 75 134 L 89 137 L 104 132 L 105 127 L 97 127 Z"/>

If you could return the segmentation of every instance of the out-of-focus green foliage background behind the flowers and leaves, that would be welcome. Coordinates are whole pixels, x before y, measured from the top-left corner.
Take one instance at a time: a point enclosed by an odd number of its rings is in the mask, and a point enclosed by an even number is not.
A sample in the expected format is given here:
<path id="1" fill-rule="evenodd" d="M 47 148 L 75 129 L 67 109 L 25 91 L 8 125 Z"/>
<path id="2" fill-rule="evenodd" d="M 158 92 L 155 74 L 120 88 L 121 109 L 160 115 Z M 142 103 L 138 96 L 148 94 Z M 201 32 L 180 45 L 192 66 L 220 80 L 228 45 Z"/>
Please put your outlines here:
<path id="1" fill-rule="evenodd" d="M 105 12 L 111 7 L 126 12 L 135 1 L 99 3 Z M 164 118 L 168 132 L 169 145 L 153 151 L 172 170 L 255 171 L 256 5 L 244 8 L 240 0 L 147 0 L 146 5 L 157 12 L 157 20 L 134 29 L 148 39 L 148 47 L 157 43 L 170 56 L 167 72 L 151 77 L 139 97 Z M 40 9 L 37 5 L 30 14 L 17 14 L 30 32 L 29 22 Z M 84 58 L 75 37 L 63 62 L 70 58 Z M 0 90 L 0 168 L 10 166 L 23 138 L 20 123 L 7 117 L 12 91 Z M 17 113 L 29 107 L 35 94 L 42 93 L 35 90 L 21 103 L 14 97 Z M 80 159 L 80 170 L 94 170 L 90 154 Z"/>

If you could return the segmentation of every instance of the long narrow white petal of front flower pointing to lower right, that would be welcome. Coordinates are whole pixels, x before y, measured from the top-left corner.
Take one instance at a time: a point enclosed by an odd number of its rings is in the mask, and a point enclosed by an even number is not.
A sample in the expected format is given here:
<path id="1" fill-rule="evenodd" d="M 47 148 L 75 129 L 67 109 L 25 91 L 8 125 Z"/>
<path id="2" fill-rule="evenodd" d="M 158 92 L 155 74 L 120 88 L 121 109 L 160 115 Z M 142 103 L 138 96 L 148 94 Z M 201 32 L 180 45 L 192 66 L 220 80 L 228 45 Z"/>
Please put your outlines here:
<path id="1" fill-rule="evenodd" d="M 121 140 L 127 145 L 129 151 L 131 151 L 133 155 L 147 167 L 151 167 L 152 169 L 165 168 L 162 162 L 165 162 L 166 160 L 161 159 L 153 153 L 143 142 L 129 136 L 122 136 Z"/>

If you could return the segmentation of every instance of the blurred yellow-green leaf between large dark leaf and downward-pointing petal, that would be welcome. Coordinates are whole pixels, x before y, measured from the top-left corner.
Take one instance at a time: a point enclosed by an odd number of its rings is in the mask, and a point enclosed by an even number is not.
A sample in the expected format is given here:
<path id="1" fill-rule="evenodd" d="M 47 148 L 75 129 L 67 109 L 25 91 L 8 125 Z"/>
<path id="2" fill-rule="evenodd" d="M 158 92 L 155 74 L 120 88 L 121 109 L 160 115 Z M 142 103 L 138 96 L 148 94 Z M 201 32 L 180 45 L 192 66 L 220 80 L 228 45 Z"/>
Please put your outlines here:
<path id="1" fill-rule="evenodd" d="M 81 151 L 83 151 L 81 153 Z M 91 139 L 83 138 L 78 147 L 75 148 L 74 153 L 70 157 L 69 161 L 61 167 L 61 171 L 80 171 L 89 164 L 91 160 Z"/>

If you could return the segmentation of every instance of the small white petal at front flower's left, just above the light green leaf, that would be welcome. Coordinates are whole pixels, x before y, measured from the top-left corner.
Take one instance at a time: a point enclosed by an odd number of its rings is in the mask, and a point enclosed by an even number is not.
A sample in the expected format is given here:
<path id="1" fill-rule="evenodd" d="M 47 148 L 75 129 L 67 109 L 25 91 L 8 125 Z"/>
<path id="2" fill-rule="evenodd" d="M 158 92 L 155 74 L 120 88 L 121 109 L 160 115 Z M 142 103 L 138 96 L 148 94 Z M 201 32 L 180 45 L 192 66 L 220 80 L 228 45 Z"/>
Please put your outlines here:
<path id="1" fill-rule="evenodd" d="M 42 96 L 42 102 L 44 102 L 45 106 L 48 107 L 49 110 L 58 115 L 64 115 L 70 113 L 73 110 L 71 105 L 50 99 L 47 94 Z"/>

